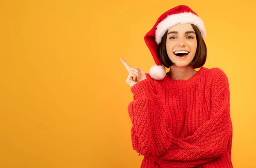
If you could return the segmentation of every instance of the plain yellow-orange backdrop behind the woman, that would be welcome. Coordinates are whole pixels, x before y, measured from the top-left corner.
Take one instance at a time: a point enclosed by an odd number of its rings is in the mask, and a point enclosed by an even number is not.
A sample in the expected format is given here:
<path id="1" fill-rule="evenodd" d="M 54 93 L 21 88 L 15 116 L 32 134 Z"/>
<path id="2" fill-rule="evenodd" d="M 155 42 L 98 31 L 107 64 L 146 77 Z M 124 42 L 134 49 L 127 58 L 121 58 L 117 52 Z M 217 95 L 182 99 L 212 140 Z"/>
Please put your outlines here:
<path id="1" fill-rule="evenodd" d="M 0 2 L 0 167 L 139 168 L 119 60 L 148 73 L 144 35 L 163 12 L 204 20 L 204 67 L 228 76 L 235 168 L 256 167 L 254 0 Z"/>

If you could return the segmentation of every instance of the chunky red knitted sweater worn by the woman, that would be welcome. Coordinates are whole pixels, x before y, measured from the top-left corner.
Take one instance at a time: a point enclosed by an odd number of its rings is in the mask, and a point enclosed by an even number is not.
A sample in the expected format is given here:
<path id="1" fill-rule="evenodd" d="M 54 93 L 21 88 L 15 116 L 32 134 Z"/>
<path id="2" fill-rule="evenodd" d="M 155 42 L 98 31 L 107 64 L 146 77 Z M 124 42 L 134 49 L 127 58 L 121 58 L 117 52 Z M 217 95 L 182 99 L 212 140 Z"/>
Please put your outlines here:
<path id="1" fill-rule="evenodd" d="M 128 105 L 131 139 L 141 168 L 233 168 L 230 90 L 219 68 L 188 80 L 165 77 L 134 84 Z"/>

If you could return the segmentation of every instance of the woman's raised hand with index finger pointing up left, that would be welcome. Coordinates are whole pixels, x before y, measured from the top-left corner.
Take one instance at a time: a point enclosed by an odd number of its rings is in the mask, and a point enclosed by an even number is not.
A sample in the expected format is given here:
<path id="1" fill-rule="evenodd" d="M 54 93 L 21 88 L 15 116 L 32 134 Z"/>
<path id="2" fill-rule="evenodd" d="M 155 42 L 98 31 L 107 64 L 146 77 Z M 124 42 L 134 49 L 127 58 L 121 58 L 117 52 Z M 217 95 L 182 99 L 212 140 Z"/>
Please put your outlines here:
<path id="1" fill-rule="evenodd" d="M 126 79 L 126 83 L 132 87 L 134 84 L 137 84 L 138 82 L 146 79 L 146 75 L 143 72 L 143 70 L 141 68 L 138 67 L 130 67 L 130 65 L 125 62 L 124 59 L 120 58 L 120 60 L 122 61 L 122 63 L 125 65 L 126 70 L 128 71 L 128 77 Z"/>

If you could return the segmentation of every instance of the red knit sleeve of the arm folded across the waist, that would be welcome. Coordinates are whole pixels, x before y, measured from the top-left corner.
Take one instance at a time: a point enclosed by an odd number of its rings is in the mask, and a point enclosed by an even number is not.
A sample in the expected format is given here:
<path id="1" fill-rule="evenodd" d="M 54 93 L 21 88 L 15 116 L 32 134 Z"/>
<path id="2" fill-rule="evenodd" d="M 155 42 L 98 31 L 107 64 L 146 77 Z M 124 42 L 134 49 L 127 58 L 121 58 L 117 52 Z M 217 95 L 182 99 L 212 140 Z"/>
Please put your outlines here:
<path id="1" fill-rule="evenodd" d="M 230 90 L 227 76 L 217 70 L 212 78 L 210 119 L 192 136 L 172 137 L 171 148 L 160 157 L 151 157 L 161 164 L 181 167 L 199 166 L 228 153 L 231 155 L 232 122 L 230 119 Z"/>

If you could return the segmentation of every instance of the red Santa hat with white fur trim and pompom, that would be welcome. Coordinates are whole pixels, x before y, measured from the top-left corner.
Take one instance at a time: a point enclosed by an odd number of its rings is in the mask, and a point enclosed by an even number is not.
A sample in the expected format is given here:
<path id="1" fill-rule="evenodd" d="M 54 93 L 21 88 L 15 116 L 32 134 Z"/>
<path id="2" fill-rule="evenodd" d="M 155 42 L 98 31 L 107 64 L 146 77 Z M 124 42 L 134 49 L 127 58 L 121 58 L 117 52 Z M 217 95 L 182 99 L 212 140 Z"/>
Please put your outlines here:
<path id="1" fill-rule="evenodd" d="M 166 76 L 165 68 L 157 56 L 157 46 L 161 42 L 165 32 L 177 24 L 194 24 L 200 30 L 202 38 L 206 37 L 203 20 L 188 6 L 176 6 L 163 13 L 154 24 L 154 27 L 144 37 L 145 43 L 156 63 L 156 65 L 153 65 L 149 70 L 151 78 L 161 80 Z"/>

